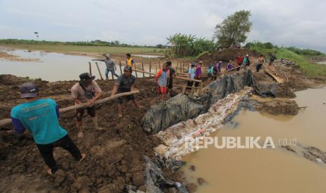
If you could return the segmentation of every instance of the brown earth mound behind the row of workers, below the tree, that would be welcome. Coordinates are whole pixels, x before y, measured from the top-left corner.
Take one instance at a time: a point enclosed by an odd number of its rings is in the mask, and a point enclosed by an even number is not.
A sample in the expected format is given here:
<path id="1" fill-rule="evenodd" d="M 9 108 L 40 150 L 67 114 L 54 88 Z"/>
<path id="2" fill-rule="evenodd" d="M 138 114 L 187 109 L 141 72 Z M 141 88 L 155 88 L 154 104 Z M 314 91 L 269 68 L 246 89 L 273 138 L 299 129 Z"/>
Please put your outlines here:
<path id="1" fill-rule="evenodd" d="M 258 53 L 252 52 L 252 50 L 247 49 L 224 49 L 222 51 L 216 51 L 212 54 L 207 53 L 198 57 L 198 60 L 202 60 L 204 64 L 215 64 L 217 61 L 222 60 L 223 62 L 229 62 L 230 59 L 235 59 L 238 54 L 243 56 L 250 55 L 253 57 L 258 57 Z"/>

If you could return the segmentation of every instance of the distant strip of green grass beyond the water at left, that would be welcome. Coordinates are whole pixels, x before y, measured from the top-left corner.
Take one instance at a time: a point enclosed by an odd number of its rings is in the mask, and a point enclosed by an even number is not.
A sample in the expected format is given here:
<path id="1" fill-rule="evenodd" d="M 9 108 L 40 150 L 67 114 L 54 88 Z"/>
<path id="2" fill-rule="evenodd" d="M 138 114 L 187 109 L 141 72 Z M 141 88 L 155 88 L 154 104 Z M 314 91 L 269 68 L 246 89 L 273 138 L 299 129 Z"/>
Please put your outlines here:
<path id="1" fill-rule="evenodd" d="M 24 44 L 3 44 L 9 48 L 18 48 L 24 50 L 43 50 L 48 52 L 92 52 L 92 53 L 148 53 L 163 54 L 164 49 L 161 48 L 133 48 L 121 46 L 89 46 L 89 45 L 24 45 Z"/>

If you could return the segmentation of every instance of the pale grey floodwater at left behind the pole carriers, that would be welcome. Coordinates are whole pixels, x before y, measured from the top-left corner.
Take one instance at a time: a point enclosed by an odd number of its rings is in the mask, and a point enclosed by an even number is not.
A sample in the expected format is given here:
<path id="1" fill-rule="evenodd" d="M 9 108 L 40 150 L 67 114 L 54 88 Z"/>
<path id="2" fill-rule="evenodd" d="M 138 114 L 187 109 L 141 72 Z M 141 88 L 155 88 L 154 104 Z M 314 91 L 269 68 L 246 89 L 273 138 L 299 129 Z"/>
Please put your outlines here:
<path id="1" fill-rule="evenodd" d="M 6 51 L 11 55 L 17 55 L 24 59 L 38 59 L 39 62 L 12 62 L 0 59 L 0 74 L 12 74 L 15 76 L 41 78 L 42 80 L 58 81 L 58 80 L 79 80 L 79 74 L 88 72 L 91 57 L 64 55 L 55 52 L 42 52 L 27 50 L 10 50 Z M 97 62 L 103 78 L 105 72 L 104 62 Z M 119 66 L 116 66 L 116 73 L 120 75 Z M 123 66 L 122 66 L 123 68 Z M 148 71 L 148 69 L 145 69 Z M 92 73 L 96 79 L 100 78 L 95 62 L 92 62 Z M 135 75 L 135 73 L 133 73 Z M 137 73 L 142 77 L 142 73 Z M 146 75 L 145 75 L 146 76 Z M 111 73 L 109 73 L 111 78 Z"/>

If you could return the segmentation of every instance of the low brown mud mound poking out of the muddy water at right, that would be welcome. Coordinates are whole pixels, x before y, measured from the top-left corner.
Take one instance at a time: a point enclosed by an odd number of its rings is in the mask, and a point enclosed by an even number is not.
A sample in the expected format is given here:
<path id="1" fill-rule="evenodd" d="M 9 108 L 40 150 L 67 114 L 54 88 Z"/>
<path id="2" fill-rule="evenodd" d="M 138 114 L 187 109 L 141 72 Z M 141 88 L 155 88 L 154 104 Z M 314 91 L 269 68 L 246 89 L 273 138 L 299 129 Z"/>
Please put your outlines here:
<path id="1" fill-rule="evenodd" d="M 273 101 L 259 101 L 256 105 L 256 110 L 271 115 L 297 115 L 299 106 L 296 101 L 283 101 L 275 99 Z"/>

